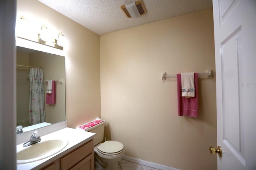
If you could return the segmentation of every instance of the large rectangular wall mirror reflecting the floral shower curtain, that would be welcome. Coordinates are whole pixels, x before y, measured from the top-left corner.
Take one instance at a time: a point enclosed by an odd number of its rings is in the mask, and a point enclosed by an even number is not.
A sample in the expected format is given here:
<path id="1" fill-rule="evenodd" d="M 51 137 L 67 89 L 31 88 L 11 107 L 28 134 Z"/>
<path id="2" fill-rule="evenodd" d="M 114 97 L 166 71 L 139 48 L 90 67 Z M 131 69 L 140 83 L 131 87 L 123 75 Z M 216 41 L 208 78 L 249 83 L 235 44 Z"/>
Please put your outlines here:
<path id="1" fill-rule="evenodd" d="M 66 120 L 66 107 L 65 107 L 65 57 L 29 49 L 25 47 L 17 47 L 17 60 L 16 60 L 16 102 L 17 102 L 17 126 L 22 125 L 23 132 L 37 129 L 45 125 L 51 125 L 60 121 Z M 36 69 L 35 69 L 36 68 Z M 39 70 L 43 77 L 43 91 L 44 101 L 34 97 L 31 91 L 32 74 L 33 71 Z M 39 78 L 40 79 L 40 78 Z M 49 102 L 47 96 L 48 80 L 56 81 L 55 90 L 55 104 Z M 39 90 L 38 88 L 35 90 Z M 50 98 L 52 100 L 53 98 Z M 37 117 L 41 120 L 34 120 L 37 118 L 32 117 L 31 114 L 38 114 L 40 107 L 31 106 L 31 100 L 36 100 L 44 103 L 44 115 Z M 41 101 L 40 101 L 41 100 Z M 50 104 L 49 104 L 50 103 Z M 39 115 L 39 114 L 38 114 Z M 38 127 L 39 124 L 44 124 Z"/>

